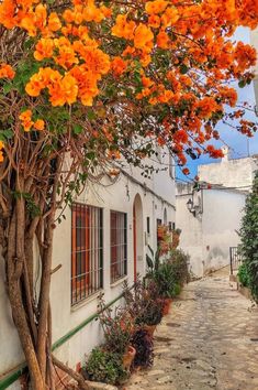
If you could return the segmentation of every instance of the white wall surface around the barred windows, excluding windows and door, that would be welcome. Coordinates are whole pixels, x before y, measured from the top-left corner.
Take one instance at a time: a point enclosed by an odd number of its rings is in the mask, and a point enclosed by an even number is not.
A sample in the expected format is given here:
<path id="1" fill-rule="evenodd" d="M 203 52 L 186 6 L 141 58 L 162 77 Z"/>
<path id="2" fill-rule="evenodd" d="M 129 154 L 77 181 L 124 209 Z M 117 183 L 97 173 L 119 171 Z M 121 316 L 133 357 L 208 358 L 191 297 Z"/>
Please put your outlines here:
<path id="1" fill-rule="evenodd" d="M 159 173 L 158 173 L 159 175 Z M 154 175 L 155 176 L 155 175 Z M 176 204 L 175 182 L 169 177 L 168 172 L 162 173 L 164 183 L 158 184 L 158 195 L 166 197 L 171 204 Z M 153 183 L 153 181 L 150 181 Z M 165 207 L 167 209 L 168 221 L 175 221 L 175 208 L 169 206 L 165 199 L 160 199 L 152 192 L 144 188 L 141 184 L 134 182 L 123 174 L 120 174 L 115 184 L 111 185 L 109 178 L 102 181 L 102 185 L 89 184 L 87 189 L 78 198 L 78 202 L 103 207 L 103 246 L 104 246 L 104 299 L 106 303 L 116 299 L 122 292 L 122 281 L 117 281 L 110 285 L 110 210 L 127 213 L 127 277 L 130 283 L 133 282 L 134 275 L 134 257 L 133 257 L 133 204 L 135 196 L 138 194 L 143 205 L 143 229 L 141 235 L 144 243 L 142 259 L 137 259 L 137 271 L 144 274 L 146 271 L 146 250 L 147 245 L 156 249 L 157 246 L 157 218 L 164 218 Z M 154 185 L 152 184 L 152 191 Z M 54 237 L 54 256 L 53 269 L 61 264 L 61 268 L 52 277 L 52 311 L 53 311 L 53 342 L 69 333 L 71 329 L 80 325 L 86 318 L 97 312 L 97 295 L 85 300 L 80 304 L 70 305 L 70 278 L 71 278 L 71 210 L 67 207 L 66 220 L 56 228 Z M 147 235 L 147 217 L 150 218 L 150 234 Z M 18 364 L 22 362 L 23 357 L 20 348 L 20 342 L 16 331 L 12 324 L 8 299 L 4 291 L 4 273 L 3 261 L 1 261 L 0 273 L 0 307 L 1 307 L 1 326 L 0 326 L 0 377 L 9 371 Z M 60 346 L 55 354 L 64 362 L 75 367 L 78 361 L 85 360 L 85 355 L 102 340 L 98 322 L 93 321 L 83 329 L 78 332 L 68 342 Z M 4 351 L 4 353 L 3 353 Z M 13 384 L 10 389 L 14 389 Z"/>

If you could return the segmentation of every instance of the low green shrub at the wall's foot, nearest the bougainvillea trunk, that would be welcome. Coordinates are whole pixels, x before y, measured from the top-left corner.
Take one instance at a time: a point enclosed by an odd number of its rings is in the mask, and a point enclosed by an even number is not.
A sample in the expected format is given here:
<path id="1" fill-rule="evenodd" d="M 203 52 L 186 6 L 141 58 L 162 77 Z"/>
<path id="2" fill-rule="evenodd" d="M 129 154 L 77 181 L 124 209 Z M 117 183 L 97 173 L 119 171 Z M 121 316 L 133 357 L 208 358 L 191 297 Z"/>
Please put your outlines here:
<path id="1" fill-rule="evenodd" d="M 83 370 L 88 379 L 110 384 L 120 384 L 128 376 L 123 367 L 121 355 L 105 351 L 99 347 L 92 349 Z"/>

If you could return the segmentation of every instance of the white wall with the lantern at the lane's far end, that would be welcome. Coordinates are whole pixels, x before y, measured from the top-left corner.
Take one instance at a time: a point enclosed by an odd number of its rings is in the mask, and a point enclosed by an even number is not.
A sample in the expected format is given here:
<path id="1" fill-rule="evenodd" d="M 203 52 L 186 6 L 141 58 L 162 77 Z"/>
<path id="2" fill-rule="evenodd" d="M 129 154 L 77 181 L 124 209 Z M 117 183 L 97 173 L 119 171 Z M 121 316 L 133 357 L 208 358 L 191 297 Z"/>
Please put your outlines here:
<path id="1" fill-rule="evenodd" d="M 177 227 L 182 229 L 180 247 L 190 254 L 192 272 L 202 277 L 207 270 L 229 263 L 229 247 L 239 243 L 246 195 L 228 189 L 203 189 L 203 214 L 197 217 L 187 208 L 192 186 L 177 185 Z M 199 193 L 201 194 L 201 193 Z"/>

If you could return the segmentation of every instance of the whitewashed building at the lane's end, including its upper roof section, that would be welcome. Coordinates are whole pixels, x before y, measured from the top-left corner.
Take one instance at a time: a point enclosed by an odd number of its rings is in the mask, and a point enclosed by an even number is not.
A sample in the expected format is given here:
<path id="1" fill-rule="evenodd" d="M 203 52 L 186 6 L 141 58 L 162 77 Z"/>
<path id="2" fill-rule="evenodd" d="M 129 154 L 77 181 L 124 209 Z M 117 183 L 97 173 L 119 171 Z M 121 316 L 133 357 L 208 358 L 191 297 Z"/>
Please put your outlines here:
<path id="1" fill-rule="evenodd" d="M 190 254 L 191 271 L 202 277 L 229 264 L 229 247 L 239 243 L 246 195 L 258 170 L 258 158 L 228 159 L 199 165 L 200 186 L 177 183 L 177 220 L 180 247 Z"/>

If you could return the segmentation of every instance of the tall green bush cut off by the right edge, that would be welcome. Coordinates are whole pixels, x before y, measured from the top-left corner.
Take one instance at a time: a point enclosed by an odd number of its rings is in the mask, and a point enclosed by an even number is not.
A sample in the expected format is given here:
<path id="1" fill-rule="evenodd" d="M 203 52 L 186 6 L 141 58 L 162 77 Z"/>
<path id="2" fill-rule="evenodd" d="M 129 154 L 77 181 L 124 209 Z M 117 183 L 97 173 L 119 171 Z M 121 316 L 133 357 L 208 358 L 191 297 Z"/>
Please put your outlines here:
<path id="1" fill-rule="evenodd" d="M 258 302 L 258 172 L 254 178 L 251 193 L 246 198 L 240 238 L 245 280 L 248 281 L 254 300 Z"/>

